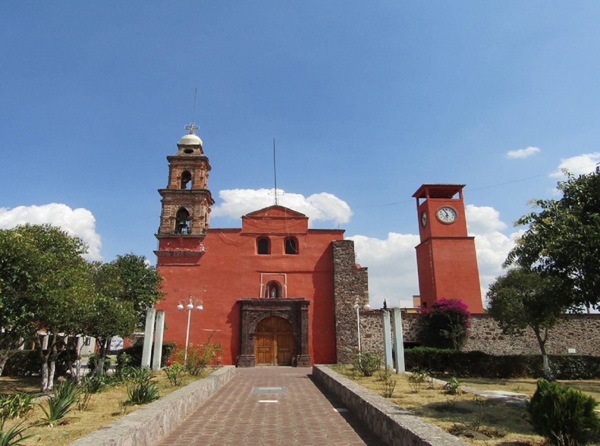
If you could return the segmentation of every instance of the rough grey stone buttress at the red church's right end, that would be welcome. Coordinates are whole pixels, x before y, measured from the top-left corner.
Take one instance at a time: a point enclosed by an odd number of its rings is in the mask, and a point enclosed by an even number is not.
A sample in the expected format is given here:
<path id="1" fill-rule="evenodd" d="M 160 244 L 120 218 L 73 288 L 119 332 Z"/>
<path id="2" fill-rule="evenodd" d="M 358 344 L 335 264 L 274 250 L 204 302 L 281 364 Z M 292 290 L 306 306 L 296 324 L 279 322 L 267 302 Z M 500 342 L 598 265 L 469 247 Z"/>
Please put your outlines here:
<path id="1" fill-rule="evenodd" d="M 359 308 L 362 309 L 369 302 L 367 268 L 356 265 L 352 240 L 332 242 L 332 258 L 337 361 L 352 363 L 358 351 L 358 327 L 354 306 L 358 303 Z"/>

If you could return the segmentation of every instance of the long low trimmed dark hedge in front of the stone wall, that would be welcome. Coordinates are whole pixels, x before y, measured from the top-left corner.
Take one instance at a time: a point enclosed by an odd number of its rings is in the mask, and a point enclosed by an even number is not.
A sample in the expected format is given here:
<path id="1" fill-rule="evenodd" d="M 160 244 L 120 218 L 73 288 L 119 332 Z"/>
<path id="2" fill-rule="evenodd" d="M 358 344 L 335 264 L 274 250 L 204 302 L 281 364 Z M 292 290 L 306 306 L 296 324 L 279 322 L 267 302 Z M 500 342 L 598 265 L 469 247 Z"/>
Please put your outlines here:
<path id="1" fill-rule="evenodd" d="M 556 379 L 600 378 L 600 357 L 548 355 Z M 416 347 L 404 351 L 406 370 L 427 369 L 434 375 L 484 378 L 543 376 L 541 355 L 489 355 L 449 349 Z"/>

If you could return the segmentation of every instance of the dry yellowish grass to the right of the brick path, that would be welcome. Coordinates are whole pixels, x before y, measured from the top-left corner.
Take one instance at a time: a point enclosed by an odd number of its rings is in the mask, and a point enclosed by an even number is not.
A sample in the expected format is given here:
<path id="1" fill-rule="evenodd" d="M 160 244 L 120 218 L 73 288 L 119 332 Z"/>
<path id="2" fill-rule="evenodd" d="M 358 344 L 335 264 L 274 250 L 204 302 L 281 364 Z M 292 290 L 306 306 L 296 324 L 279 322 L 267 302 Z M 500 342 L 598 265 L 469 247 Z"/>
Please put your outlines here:
<path id="1" fill-rule="evenodd" d="M 383 380 L 376 373 L 365 378 L 355 373 L 352 366 L 332 366 L 336 372 L 353 379 L 378 395 L 383 393 Z M 542 446 L 544 438 L 533 432 L 527 422 L 525 408 L 499 400 L 484 399 L 470 393 L 446 394 L 439 384 L 426 382 L 417 391 L 406 375 L 392 375 L 395 379 L 392 402 L 419 415 L 432 424 L 459 436 L 473 445 Z M 460 379 L 461 385 L 481 390 L 505 390 L 532 396 L 535 379 Z M 563 384 L 590 394 L 600 400 L 600 381 L 563 381 Z M 598 445 L 600 443 L 593 443 Z"/>

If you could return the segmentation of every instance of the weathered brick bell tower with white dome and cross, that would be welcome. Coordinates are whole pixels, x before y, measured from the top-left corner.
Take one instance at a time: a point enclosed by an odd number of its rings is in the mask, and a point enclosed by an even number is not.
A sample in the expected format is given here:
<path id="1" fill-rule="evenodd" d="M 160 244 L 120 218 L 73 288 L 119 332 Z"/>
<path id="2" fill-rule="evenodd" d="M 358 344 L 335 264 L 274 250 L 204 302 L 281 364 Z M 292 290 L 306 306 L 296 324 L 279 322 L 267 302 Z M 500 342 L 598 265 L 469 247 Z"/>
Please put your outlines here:
<path id="1" fill-rule="evenodd" d="M 177 153 L 167 156 L 169 184 L 158 190 L 162 197 L 155 251 L 159 265 L 166 261 L 165 257 L 202 255 L 202 240 L 214 204 L 208 190 L 211 164 L 204 154 L 202 139 L 194 133 L 198 127 L 192 122 L 185 128 L 189 133 L 177 143 Z"/>

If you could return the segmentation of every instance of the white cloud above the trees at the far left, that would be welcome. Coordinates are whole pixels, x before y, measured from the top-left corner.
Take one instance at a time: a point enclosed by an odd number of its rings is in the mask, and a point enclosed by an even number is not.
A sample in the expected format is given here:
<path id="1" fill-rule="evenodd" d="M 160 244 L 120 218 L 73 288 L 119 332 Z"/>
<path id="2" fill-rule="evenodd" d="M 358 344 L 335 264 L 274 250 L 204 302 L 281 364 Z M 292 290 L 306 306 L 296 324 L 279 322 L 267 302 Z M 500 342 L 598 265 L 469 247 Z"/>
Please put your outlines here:
<path id="1" fill-rule="evenodd" d="M 60 203 L 50 203 L 41 206 L 17 206 L 13 209 L 0 208 L 0 228 L 10 229 L 17 225 L 32 223 L 50 223 L 76 235 L 88 244 L 88 253 L 84 256 L 88 260 L 102 259 L 100 235 L 96 233 L 96 219 L 88 209 L 71 209 Z"/>

